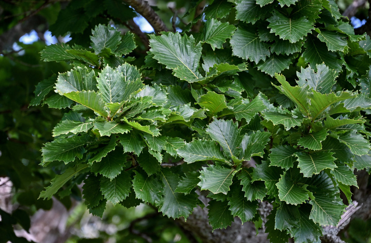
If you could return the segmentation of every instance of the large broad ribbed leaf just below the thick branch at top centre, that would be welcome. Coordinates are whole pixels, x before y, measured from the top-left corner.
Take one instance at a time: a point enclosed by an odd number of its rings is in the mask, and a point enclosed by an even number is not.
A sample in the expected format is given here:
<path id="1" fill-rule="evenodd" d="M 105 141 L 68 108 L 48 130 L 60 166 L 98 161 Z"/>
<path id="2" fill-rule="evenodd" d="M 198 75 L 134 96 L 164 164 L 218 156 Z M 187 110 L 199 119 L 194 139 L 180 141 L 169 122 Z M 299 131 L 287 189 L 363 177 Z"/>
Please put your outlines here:
<path id="1" fill-rule="evenodd" d="M 166 65 L 168 69 L 183 67 L 188 70 L 195 79 L 201 77 L 198 72 L 201 57 L 201 43 L 195 45 L 193 36 L 181 36 L 179 32 L 167 32 L 160 36 L 151 36 L 151 52 L 154 59 Z"/>

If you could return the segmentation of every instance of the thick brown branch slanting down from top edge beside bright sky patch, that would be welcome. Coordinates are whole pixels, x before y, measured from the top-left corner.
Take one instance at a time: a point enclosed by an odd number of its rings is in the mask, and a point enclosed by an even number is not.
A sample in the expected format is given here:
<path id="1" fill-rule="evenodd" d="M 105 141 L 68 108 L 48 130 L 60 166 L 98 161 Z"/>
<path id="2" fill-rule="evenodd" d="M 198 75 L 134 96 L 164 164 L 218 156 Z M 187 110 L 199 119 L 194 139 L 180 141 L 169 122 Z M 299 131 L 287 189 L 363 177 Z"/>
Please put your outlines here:
<path id="1" fill-rule="evenodd" d="M 145 19 L 147 19 L 148 23 L 151 24 L 156 34 L 160 33 L 161 31 L 169 31 L 160 16 L 155 13 L 147 1 L 124 0 L 124 2 L 133 7 L 137 13 L 141 14 Z"/>

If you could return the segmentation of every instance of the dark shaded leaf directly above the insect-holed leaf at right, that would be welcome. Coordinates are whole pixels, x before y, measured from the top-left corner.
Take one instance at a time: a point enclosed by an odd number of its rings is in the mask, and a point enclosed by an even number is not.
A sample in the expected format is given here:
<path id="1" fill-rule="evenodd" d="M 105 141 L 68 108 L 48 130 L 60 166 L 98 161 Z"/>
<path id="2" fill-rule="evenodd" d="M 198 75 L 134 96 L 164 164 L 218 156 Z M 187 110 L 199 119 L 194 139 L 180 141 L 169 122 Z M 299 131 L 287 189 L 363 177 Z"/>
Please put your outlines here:
<path id="1" fill-rule="evenodd" d="M 304 43 L 306 50 L 303 52 L 303 57 L 306 62 L 309 62 L 312 67 L 316 64 L 325 63 L 331 69 L 341 70 L 341 60 L 335 52 L 327 49 L 326 44 L 309 35 Z"/>

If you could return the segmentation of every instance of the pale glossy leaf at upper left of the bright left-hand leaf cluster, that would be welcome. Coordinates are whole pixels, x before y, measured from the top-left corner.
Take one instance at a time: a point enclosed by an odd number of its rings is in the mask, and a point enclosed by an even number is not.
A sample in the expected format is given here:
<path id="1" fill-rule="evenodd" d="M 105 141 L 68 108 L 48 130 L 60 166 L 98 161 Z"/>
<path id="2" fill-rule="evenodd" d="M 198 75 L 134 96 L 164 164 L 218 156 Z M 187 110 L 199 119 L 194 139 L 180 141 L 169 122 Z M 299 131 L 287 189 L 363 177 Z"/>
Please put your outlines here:
<path id="1" fill-rule="evenodd" d="M 77 67 L 65 73 L 60 73 L 55 86 L 56 92 L 61 95 L 72 91 L 96 91 L 94 70 Z"/>

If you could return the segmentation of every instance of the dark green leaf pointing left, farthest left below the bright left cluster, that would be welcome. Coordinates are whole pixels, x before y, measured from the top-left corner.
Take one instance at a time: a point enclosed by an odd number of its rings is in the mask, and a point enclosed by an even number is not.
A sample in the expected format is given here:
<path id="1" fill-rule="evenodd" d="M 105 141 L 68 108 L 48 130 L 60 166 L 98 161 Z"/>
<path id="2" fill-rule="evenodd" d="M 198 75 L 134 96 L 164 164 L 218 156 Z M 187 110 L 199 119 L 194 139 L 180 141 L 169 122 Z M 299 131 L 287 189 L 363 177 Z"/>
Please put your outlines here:
<path id="1" fill-rule="evenodd" d="M 43 155 L 43 164 L 53 160 L 65 162 L 74 161 L 76 157 L 82 158 L 86 150 L 84 145 L 88 142 L 85 136 L 73 136 L 70 138 L 58 138 L 52 142 L 47 142 L 41 149 Z"/>

